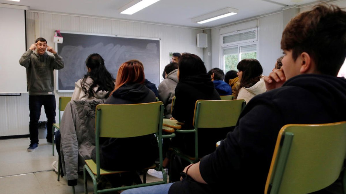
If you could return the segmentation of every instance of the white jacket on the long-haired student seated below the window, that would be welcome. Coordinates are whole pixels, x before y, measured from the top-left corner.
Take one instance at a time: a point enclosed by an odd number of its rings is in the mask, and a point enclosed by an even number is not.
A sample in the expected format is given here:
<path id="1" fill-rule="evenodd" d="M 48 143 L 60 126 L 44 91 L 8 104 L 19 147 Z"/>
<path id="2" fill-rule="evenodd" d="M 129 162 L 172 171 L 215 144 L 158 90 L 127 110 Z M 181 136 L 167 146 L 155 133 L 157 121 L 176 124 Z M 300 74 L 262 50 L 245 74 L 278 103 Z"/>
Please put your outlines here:
<path id="1" fill-rule="evenodd" d="M 237 99 L 244 99 L 246 103 L 248 103 L 251 98 L 265 91 L 267 91 L 267 89 L 265 88 L 264 78 L 262 77 L 255 85 L 249 88 L 240 88 Z"/>

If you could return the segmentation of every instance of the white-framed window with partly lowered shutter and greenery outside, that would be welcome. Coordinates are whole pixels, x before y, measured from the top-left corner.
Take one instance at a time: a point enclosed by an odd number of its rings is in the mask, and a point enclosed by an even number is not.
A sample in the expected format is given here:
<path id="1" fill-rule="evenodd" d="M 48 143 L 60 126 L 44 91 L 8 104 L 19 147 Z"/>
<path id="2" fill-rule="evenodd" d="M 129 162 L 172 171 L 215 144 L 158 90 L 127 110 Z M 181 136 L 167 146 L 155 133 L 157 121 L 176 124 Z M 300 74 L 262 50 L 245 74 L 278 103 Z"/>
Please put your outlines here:
<path id="1" fill-rule="evenodd" d="M 236 70 L 240 60 L 257 59 L 257 28 L 236 31 L 220 36 L 222 65 L 225 73 Z"/>

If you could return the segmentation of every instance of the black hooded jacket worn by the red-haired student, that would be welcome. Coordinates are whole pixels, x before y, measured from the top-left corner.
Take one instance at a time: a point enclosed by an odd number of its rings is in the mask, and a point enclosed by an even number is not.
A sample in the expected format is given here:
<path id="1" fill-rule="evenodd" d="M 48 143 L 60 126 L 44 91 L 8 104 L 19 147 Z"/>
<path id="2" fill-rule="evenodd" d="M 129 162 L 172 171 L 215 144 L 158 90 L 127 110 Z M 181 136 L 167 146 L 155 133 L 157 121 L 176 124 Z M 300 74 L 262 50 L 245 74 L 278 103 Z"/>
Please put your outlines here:
<path id="1" fill-rule="evenodd" d="M 154 92 L 144 84 L 127 83 L 114 91 L 104 104 L 139 104 L 155 101 Z M 114 122 L 131 121 L 114 118 Z M 158 145 L 154 134 L 130 138 L 100 138 L 100 144 L 101 142 L 101 167 L 105 169 L 142 169 L 154 164 L 158 157 Z"/>

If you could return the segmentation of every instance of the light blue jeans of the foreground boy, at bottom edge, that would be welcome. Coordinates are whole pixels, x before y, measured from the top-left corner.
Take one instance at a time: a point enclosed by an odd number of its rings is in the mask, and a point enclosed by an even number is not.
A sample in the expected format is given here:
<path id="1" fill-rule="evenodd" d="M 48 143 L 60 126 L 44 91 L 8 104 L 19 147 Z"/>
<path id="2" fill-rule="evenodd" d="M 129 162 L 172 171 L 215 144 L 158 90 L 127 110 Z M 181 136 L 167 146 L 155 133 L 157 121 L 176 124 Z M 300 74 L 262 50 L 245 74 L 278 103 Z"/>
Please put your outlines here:
<path id="1" fill-rule="evenodd" d="M 132 188 L 121 192 L 121 194 L 168 194 L 172 184 L 173 183 Z"/>

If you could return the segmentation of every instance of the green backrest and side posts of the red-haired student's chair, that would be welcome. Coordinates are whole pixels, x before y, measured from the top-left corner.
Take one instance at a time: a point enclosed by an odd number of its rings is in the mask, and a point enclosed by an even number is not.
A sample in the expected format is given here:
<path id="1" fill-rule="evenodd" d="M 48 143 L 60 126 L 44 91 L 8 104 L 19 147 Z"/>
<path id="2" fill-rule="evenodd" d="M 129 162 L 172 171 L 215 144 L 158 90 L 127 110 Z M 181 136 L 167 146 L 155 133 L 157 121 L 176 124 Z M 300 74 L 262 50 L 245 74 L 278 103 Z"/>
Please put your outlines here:
<path id="1" fill-rule="evenodd" d="M 148 134 L 157 135 L 159 160 L 162 169 L 162 122 L 164 105 L 161 101 L 143 104 L 96 106 L 96 166 L 100 176 L 99 137 L 138 137 Z M 131 143 L 131 142 L 129 142 Z"/>

